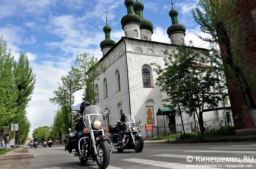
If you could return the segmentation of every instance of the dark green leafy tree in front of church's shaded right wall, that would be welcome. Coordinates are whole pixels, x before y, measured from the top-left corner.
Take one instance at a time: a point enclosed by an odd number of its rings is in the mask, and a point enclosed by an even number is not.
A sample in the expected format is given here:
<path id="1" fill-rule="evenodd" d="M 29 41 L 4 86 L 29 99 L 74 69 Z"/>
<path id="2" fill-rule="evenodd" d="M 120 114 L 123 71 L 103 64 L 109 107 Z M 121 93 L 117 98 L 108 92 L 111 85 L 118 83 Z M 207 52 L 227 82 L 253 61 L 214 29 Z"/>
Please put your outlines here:
<path id="1" fill-rule="evenodd" d="M 182 111 L 190 116 L 196 114 L 200 132 L 204 135 L 203 110 L 214 108 L 221 100 L 218 89 L 217 71 L 205 65 L 210 60 L 204 52 L 195 52 L 195 48 L 178 46 L 177 52 L 173 51 L 168 58 L 164 58 L 165 68 L 157 66 L 157 85 L 160 91 L 168 96 L 166 107 L 177 109 L 179 115 Z M 185 131 L 183 131 L 185 132 Z"/>

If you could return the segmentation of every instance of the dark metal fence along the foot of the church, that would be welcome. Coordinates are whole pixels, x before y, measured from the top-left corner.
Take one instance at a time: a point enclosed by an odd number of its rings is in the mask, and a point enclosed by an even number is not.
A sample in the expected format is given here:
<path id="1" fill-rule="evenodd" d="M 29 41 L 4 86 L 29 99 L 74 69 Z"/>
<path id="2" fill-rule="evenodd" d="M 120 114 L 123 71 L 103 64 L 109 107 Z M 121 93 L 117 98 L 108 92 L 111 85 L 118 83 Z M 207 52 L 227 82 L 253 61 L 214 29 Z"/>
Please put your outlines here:
<path id="1" fill-rule="evenodd" d="M 183 124 L 184 126 L 184 131 L 185 133 L 189 133 L 189 132 L 198 132 L 198 134 L 200 133 L 200 128 L 199 128 L 199 124 L 198 121 L 196 120 L 196 122 L 187 122 Z M 233 121 L 232 121 L 232 115 L 228 115 L 226 117 L 218 117 L 218 118 L 210 118 L 210 119 L 205 119 L 204 120 L 204 130 L 210 130 L 210 129 L 220 129 L 221 127 L 231 127 L 234 126 Z M 159 135 L 159 129 L 164 129 L 165 135 L 173 135 L 175 134 L 177 137 L 178 133 L 183 133 L 183 129 L 182 129 L 182 124 L 173 124 L 170 126 L 165 126 L 165 127 L 159 127 L 157 129 L 157 135 Z M 175 137 L 174 135 L 174 137 Z"/>

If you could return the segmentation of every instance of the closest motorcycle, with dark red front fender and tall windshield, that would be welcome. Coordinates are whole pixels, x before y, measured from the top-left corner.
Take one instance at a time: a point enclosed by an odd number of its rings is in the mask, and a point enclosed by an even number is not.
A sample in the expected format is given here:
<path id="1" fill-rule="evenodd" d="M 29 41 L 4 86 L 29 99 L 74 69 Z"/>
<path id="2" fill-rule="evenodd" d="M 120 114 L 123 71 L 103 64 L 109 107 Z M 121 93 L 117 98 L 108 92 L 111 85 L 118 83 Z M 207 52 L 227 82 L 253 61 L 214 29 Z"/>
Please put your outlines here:
<path id="1" fill-rule="evenodd" d="M 93 160 L 96 161 L 100 169 L 108 167 L 113 148 L 111 141 L 105 136 L 105 131 L 108 132 L 107 114 L 109 111 L 104 113 L 96 105 L 88 106 L 83 112 L 83 116 L 79 114 L 79 119 L 82 118 L 85 125 L 84 137 L 79 140 L 79 153 L 73 152 L 75 157 L 79 157 L 81 163 L 85 164 L 88 160 Z M 71 153 L 72 149 L 75 149 L 75 136 L 66 134 L 66 137 L 65 151 L 68 150 Z"/>

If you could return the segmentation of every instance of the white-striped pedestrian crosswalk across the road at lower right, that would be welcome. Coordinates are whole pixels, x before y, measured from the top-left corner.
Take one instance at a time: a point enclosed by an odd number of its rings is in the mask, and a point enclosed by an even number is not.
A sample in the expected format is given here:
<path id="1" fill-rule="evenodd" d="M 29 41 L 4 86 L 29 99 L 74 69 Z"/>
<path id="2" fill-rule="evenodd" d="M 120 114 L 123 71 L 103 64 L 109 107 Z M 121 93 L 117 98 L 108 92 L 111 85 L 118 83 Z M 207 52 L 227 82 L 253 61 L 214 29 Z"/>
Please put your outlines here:
<path id="1" fill-rule="evenodd" d="M 177 149 L 177 147 L 175 147 L 176 149 L 159 147 L 159 149 L 154 149 L 154 147 L 147 149 L 144 147 L 141 153 L 113 152 L 111 159 L 116 158 L 119 163 L 116 162 L 116 159 L 110 161 L 107 169 L 256 169 L 256 157 L 255 159 L 253 157 L 253 155 L 256 155 L 256 144 L 205 146 L 201 149 L 191 149 L 191 147 Z M 157 152 L 159 153 L 157 154 Z M 203 163 L 200 161 L 202 159 Z M 89 163 L 88 166 L 86 164 L 86 168 L 94 169 L 98 168 L 98 166 L 93 162 Z M 64 168 L 52 167 L 44 169 Z"/>

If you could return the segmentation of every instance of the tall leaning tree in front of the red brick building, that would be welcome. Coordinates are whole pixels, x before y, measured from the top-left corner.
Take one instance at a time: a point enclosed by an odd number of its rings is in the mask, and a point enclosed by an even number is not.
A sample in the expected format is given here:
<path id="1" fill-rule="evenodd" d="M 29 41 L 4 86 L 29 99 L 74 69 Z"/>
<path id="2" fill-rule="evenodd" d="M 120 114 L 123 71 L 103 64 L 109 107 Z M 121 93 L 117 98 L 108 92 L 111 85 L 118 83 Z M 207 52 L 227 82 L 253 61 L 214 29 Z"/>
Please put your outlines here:
<path id="1" fill-rule="evenodd" d="M 255 92 L 255 72 L 245 67 L 245 32 L 241 32 L 240 29 L 241 18 L 236 15 L 236 4 L 237 0 L 199 0 L 192 12 L 201 31 L 211 35 L 211 38 L 202 39 L 211 44 L 219 44 L 225 51 L 221 53 L 225 76 L 234 79 L 240 86 L 245 104 L 256 126 L 256 104 L 252 94 Z M 232 104 L 231 102 L 231 106 Z"/>

